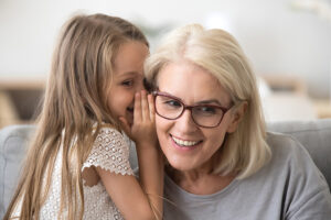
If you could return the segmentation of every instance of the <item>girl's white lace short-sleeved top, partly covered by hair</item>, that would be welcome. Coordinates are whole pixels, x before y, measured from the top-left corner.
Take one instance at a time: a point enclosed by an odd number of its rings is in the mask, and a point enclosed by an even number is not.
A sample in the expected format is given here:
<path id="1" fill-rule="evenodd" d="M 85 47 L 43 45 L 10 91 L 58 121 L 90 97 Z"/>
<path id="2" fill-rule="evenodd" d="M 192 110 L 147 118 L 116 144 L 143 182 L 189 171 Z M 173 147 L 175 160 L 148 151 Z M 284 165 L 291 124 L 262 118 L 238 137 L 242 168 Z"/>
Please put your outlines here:
<path id="1" fill-rule="evenodd" d="M 61 204 L 61 154 L 62 151 L 58 151 L 49 197 L 40 212 L 41 220 L 57 219 L 58 216 Z M 115 129 L 102 128 L 89 156 L 83 164 L 82 172 L 90 166 L 102 167 L 116 174 L 134 175 L 129 164 L 129 145 L 125 136 Z M 92 187 L 83 185 L 83 189 L 85 199 L 84 220 L 122 219 L 100 180 Z M 63 216 L 60 219 L 63 219 Z"/>

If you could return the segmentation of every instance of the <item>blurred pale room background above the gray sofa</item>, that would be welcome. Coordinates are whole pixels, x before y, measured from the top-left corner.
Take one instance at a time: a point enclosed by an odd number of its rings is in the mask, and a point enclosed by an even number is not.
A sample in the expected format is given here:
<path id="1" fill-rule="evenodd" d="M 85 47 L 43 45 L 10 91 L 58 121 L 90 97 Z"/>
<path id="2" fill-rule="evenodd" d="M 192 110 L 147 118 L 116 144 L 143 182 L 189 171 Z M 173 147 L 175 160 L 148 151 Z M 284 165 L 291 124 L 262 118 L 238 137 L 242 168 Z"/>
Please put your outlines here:
<path id="1" fill-rule="evenodd" d="M 131 21 L 151 52 L 177 26 L 224 29 L 258 76 L 267 121 L 331 118 L 331 0 L 0 0 L 0 128 L 32 121 L 57 33 L 81 12 Z"/>

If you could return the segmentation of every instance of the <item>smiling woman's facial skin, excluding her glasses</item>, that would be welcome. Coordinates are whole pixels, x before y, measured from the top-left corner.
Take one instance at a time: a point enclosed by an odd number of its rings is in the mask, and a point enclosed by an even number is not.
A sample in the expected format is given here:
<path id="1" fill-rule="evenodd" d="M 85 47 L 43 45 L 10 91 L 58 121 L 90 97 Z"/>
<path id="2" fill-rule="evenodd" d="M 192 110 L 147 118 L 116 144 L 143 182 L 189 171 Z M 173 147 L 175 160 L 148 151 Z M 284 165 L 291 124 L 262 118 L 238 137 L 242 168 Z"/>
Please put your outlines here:
<path id="1" fill-rule="evenodd" d="M 192 63 L 171 63 L 160 70 L 157 80 L 161 92 L 180 98 L 185 105 L 232 106 L 218 80 Z M 199 127 L 189 110 L 175 120 L 156 117 L 161 148 L 170 165 L 182 172 L 209 167 L 211 157 L 222 146 L 225 133 L 235 130 L 235 121 L 232 110 L 224 114 L 216 128 Z"/>

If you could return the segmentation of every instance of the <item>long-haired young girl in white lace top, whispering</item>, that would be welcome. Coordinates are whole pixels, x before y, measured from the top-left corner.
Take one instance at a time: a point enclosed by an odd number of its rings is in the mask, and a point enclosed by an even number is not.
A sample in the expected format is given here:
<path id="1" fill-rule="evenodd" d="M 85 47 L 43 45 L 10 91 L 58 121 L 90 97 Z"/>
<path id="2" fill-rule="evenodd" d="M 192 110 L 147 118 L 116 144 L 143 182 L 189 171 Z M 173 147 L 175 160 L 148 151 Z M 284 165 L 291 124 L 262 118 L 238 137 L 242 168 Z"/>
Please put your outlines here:
<path id="1" fill-rule="evenodd" d="M 163 167 L 142 84 L 148 54 L 145 35 L 122 19 L 67 22 L 4 219 L 161 219 Z M 136 142 L 139 182 L 121 128 Z"/>

